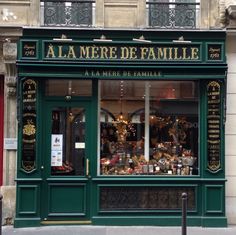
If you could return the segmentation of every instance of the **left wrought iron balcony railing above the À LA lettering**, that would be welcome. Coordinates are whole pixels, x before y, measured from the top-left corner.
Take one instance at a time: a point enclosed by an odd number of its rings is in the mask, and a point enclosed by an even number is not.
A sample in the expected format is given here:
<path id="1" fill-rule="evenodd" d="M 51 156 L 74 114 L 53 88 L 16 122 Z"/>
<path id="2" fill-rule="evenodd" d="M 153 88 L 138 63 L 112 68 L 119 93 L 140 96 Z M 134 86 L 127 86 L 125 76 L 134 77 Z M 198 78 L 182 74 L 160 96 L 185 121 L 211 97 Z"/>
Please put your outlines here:
<path id="1" fill-rule="evenodd" d="M 94 25 L 95 0 L 40 0 L 41 25 Z"/>

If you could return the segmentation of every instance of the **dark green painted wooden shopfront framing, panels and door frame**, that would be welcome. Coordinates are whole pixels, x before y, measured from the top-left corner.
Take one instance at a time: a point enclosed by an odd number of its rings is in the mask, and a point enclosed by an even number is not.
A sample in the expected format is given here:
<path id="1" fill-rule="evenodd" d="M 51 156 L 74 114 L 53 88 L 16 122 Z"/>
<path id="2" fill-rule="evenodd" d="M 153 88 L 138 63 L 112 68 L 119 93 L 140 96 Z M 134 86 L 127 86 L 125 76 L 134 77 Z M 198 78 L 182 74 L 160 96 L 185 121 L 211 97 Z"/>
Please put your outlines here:
<path id="1" fill-rule="evenodd" d="M 73 40 L 91 43 L 94 38 L 104 34 L 113 42 L 134 45 L 132 38 L 140 35 L 153 43 L 171 44 L 183 36 L 185 40 L 201 45 L 201 60 L 195 62 L 166 61 L 43 61 L 43 41 L 59 38 L 66 34 Z M 37 98 L 37 149 L 36 169 L 26 173 L 20 170 L 21 151 L 18 151 L 17 171 L 17 207 L 15 227 L 40 226 L 41 222 L 51 221 L 79 221 L 86 224 L 91 221 L 94 225 L 156 225 L 180 226 L 180 210 L 146 210 L 146 211 L 112 211 L 99 210 L 99 187 L 102 186 L 140 186 L 158 187 L 178 186 L 194 187 L 196 190 L 196 209 L 188 211 L 187 224 L 189 226 L 225 227 L 225 164 L 224 164 L 224 102 L 226 96 L 226 57 L 225 57 L 225 32 L 223 31 L 156 31 L 156 30 L 100 30 L 100 29 L 24 29 L 22 41 L 35 43 L 35 54 L 28 58 L 23 56 L 22 44 L 18 48 L 18 80 L 21 84 L 24 79 L 33 78 L 38 82 Z M 103 43 L 105 45 L 105 43 Z M 138 44 L 135 44 L 138 45 Z M 140 44 L 145 46 L 146 44 Z M 220 59 L 210 60 L 207 48 L 209 45 L 219 45 L 222 50 Z M 217 49 L 217 48 L 216 48 Z M 27 57 L 27 58 L 26 58 Z M 86 70 L 90 73 L 85 76 Z M 92 71 L 123 73 L 124 76 L 113 74 L 105 76 Z M 136 76 L 125 75 L 124 72 L 156 71 L 159 75 Z M 51 177 L 49 162 L 50 150 L 50 110 L 59 105 L 67 105 L 64 97 L 44 96 L 44 81 L 47 78 L 85 78 L 93 81 L 93 95 L 89 98 L 72 97 L 71 104 L 83 106 L 88 111 L 86 150 L 90 160 L 90 177 Z M 97 176 L 97 111 L 98 111 L 98 81 L 99 79 L 146 79 L 146 80 L 198 80 L 200 91 L 200 135 L 199 135 L 199 166 L 198 176 L 187 177 L 155 177 L 155 176 L 130 176 L 130 177 L 105 177 Z M 207 170 L 207 90 L 206 85 L 210 80 L 221 81 L 221 169 L 212 173 Z M 19 98 L 22 90 L 18 90 Z M 19 103 L 19 117 L 22 104 Z M 21 123 L 19 123 L 19 138 L 22 136 Z M 21 149 L 21 141 L 18 143 Z M 44 168 L 42 168 L 42 166 Z M 66 203 L 62 203 L 65 202 Z M 78 201 L 78 203 L 77 203 Z"/>

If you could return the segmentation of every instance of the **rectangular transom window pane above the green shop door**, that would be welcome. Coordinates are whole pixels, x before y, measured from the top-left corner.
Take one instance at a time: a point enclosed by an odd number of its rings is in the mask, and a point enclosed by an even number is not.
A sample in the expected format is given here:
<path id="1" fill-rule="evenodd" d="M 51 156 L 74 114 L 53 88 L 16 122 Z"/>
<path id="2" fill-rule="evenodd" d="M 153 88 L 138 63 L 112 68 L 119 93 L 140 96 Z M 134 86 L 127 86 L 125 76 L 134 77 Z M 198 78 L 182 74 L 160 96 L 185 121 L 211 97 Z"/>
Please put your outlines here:
<path id="1" fill-rule="evenodd" d="M 45 90 L 46 96 L 91 96 L 92 81 L 50 79 Z"/>

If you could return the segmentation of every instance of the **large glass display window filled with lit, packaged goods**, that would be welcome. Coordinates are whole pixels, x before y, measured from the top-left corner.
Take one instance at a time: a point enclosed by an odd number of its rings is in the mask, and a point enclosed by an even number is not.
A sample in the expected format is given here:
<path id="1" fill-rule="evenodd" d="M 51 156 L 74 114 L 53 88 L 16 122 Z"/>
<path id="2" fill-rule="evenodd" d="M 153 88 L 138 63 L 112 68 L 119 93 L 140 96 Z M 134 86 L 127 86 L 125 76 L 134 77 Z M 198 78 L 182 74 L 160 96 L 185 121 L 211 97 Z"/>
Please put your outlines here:
<path id="1" fill-rule="evenodd" d="M 100 82 L 101 175 L 198 175 L 198 84 Z"/>

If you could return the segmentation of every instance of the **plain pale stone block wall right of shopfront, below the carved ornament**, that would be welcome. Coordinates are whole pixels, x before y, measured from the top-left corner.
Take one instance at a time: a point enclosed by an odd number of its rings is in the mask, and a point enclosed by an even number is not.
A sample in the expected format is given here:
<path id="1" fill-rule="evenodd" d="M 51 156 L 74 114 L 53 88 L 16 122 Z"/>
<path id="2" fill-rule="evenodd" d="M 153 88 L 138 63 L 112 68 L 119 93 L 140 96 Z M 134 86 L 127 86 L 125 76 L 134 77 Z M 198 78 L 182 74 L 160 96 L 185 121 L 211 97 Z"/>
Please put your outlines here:
<path id="1" fill-rule="evenodd" d="M 236 34 L 227 37 L 227 111 L 226 111 L 226 213 L 229 224 L 236 224 Z"/>

